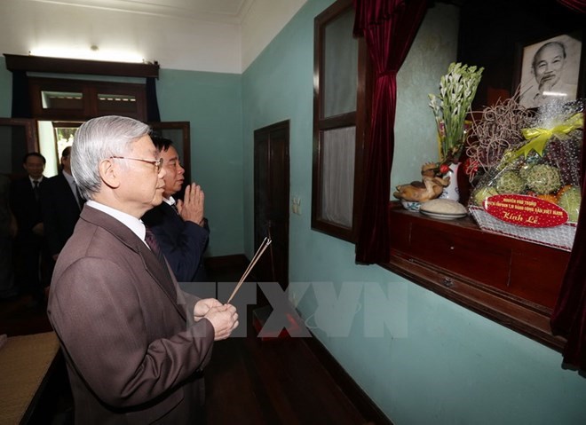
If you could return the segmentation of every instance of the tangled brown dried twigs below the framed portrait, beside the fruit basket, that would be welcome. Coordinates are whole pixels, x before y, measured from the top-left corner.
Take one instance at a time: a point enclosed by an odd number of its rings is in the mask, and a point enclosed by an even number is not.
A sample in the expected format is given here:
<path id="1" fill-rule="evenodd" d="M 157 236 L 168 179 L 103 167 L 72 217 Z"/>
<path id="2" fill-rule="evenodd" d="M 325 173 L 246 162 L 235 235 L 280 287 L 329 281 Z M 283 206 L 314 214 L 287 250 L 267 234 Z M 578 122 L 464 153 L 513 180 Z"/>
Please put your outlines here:
<path id="1" fill-rule="evenodd" d="M 476 114 L 480 118 L 472 121 L 466 146 L 466 174 L 470 181 L 479 171 L 495 167 L 505 151 L 527 143 L 521 130 L 530 127 L 535 110 L 519 104 L 518 91 L 513 98 L 499 99 Z"/>

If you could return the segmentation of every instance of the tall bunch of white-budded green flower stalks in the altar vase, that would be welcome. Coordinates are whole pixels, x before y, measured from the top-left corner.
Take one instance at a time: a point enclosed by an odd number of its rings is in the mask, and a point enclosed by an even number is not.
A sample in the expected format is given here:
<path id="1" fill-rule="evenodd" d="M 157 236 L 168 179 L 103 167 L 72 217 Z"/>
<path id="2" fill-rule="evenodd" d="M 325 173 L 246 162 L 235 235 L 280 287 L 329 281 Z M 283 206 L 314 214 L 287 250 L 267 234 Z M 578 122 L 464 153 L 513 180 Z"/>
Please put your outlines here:
<path id="1" fill-rule="evenodd" d="M 464 144 L 464 121 L 476 96 L 483 67 L 451 63 L 440 79 L 440 96 L 430 94 L 438 128 L 440 162 L 456 162 Z"/>

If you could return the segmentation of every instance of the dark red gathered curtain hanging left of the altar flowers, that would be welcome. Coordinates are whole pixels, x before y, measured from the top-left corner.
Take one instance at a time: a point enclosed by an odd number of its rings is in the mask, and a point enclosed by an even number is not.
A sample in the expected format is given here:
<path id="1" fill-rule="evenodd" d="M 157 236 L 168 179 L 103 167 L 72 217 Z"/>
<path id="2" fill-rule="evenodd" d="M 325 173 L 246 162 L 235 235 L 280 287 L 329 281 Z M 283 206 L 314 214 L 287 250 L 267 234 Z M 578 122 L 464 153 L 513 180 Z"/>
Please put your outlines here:
<path id="1" fill-rule="evenodd" d="M 388 206 L 394 150 L 397 72 L 424 19 L 427 0 L 353 0 L 354 35 L 364 36 L 376 72 L 371 140 L 356 261 L 386 262 L 390 256 Z"/>

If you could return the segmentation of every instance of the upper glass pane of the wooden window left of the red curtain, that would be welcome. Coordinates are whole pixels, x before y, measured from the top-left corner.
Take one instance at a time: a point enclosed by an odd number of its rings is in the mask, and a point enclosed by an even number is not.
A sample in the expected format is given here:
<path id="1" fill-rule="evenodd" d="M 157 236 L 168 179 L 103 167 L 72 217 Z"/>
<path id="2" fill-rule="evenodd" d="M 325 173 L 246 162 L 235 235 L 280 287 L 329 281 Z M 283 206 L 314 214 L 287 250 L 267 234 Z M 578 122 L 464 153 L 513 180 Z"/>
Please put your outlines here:
<path id="1" fill-rule="evenodd" d="M 354 12 L 351 9 L 325 30 L 323 118 L 356 110 L 358 84 L 358 40 L 352 37 Z"/>

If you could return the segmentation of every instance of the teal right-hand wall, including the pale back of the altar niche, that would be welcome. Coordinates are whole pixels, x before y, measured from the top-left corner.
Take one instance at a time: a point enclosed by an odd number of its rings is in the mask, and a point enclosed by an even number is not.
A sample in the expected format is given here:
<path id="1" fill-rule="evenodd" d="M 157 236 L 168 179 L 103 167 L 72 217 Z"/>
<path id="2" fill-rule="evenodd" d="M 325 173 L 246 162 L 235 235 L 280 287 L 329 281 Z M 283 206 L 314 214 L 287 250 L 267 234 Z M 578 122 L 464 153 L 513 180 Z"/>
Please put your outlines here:
<path id="1" fill-rule="evenodd" d="M 586 423 L 586 380 L 562 370 L 558 352 L 376 265 L 356 265 L 351 244 L 311 230 L 313 18 L 331 3 L 309 0 L 242 75 L 246 252 L 254 251 L 253 131 L 290 120 L 290 193 L 302 200 L 302 215 L 289 223 L 291 282 L 331 282 L 337 294 L 354 282 L 386 295 L 343 303 L 336 320 L 352 326 L 342 337 L 313 327 L 335 320 L 318 314 L 311 290 L 297 308 L 384 413 L 398 425 Z M 427 95 L 455 58 L 456 19 L 451 6 L 431 9 L 398 75 L 392 185 L 419 179 L 421 164 L 437 159 Z M 364 335 L 365 311 L 390 324 L 384 337 Z"/>

